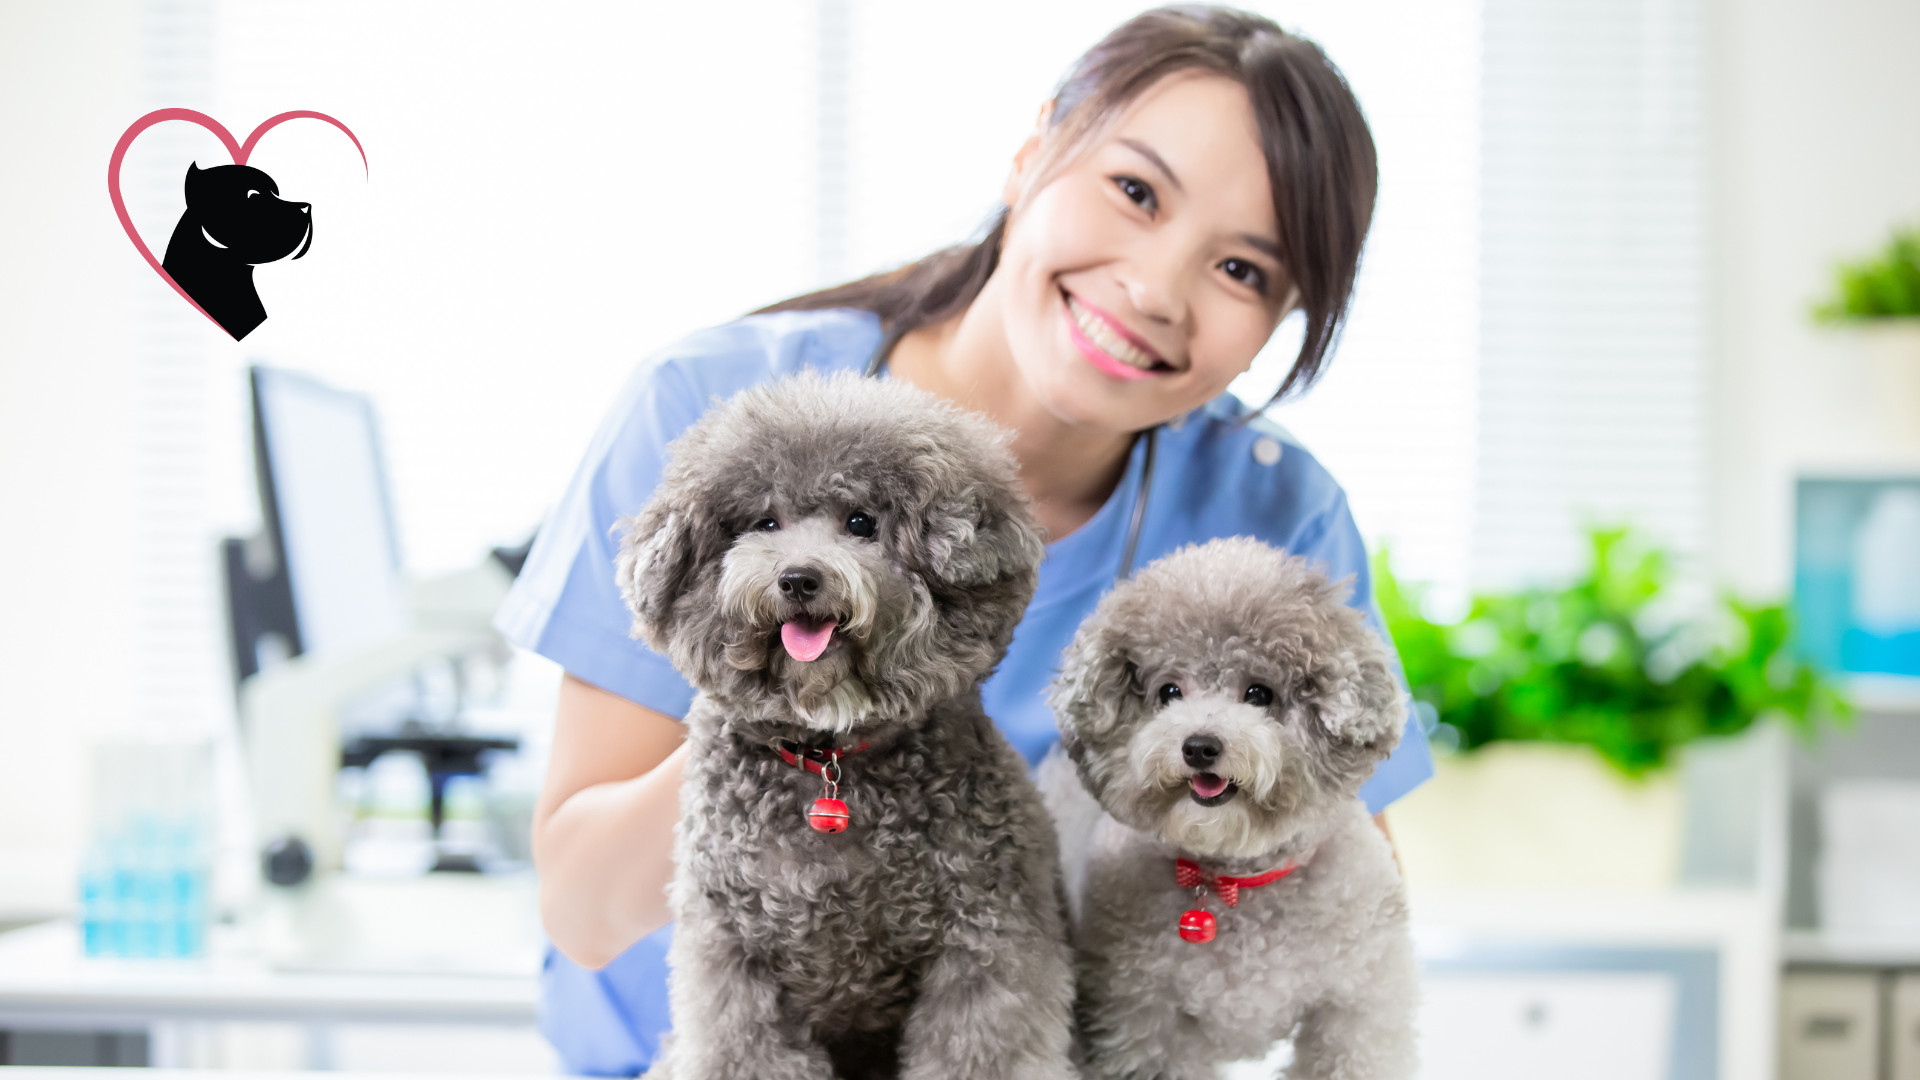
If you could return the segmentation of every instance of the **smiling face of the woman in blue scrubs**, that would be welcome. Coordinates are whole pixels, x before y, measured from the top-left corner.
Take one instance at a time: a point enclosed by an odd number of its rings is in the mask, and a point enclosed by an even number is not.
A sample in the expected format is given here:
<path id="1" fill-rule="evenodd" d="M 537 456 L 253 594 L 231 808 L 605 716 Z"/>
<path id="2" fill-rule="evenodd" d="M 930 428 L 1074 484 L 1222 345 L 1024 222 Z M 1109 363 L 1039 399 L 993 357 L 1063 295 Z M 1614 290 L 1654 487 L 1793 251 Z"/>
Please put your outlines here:
<path id="1" fill-rule="evenodd" d="M 1219 396 L 1292 290 L 1246 90 L 1169 75 L 1023 192 L 1041 138 L 1008 179 L 993 275 L 1039 402 L 1066 423 L 1140 430 Z"/>

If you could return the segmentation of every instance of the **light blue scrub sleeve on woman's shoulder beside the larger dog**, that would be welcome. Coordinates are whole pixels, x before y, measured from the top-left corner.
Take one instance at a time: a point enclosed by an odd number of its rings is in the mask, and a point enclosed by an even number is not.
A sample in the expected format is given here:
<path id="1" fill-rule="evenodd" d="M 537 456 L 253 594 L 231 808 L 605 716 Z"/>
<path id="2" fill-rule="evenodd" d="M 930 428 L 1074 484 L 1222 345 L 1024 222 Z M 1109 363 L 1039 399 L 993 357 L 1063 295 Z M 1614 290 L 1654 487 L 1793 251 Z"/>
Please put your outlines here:
<path id="1" fill-rule="evenodd" d="M 541 525 L 493 621 L 509 642 L 559 663 L 574 678 L 670 717 L 685 717 L 693 686 L 664 655 L 630 636 L 632 613 L 614 582 L 616 525 L 653 496 L 666 444 L 705 405 L 672 357 L 634 375 Z"/>

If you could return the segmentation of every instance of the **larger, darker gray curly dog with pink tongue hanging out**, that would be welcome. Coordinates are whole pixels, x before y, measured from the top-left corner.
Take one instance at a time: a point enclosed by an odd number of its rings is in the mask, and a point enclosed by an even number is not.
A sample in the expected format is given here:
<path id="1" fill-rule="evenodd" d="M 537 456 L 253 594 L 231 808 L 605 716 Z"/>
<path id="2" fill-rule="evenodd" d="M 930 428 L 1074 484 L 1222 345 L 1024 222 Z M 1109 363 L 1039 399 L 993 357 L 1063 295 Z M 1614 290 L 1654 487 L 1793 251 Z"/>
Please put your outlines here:
<path id="1" fill-rule="evenodd" d="M 647 1076 L 1071 1076 L 1056 838 L 979 700 L 1043 553 L 1004 434 L 803 375 L 714 405 L 624 525 L 634 632 L 699 688 Z"/>

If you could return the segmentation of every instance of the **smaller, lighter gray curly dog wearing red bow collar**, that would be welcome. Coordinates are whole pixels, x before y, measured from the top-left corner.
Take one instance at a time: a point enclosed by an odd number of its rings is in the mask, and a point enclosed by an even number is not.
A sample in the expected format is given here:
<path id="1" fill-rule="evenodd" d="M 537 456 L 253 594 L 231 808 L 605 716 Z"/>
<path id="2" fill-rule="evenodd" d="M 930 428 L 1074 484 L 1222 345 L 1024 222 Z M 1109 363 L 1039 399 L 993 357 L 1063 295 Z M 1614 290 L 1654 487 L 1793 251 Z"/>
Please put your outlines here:
<path id="1" fill-rule="evenodd" d="M 1413 1074 L 1405 892 L 1356 798 L 1405 701 L 1344 594 L 1213 540 L 1117 586 L 1069 646 L 1050 701 L 1106 809 L 1075 932 L 1089 1076 L 1217 1076 L 1288 1036 L 1294 1078 Z"/>

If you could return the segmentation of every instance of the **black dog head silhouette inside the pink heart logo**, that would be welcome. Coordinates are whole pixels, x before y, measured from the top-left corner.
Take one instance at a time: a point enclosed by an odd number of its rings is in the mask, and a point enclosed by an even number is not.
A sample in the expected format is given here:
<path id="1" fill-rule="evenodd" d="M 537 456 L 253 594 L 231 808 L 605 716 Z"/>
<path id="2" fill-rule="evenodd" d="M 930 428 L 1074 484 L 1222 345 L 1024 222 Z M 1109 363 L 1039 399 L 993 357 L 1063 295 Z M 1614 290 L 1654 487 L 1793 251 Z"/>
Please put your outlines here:
<path id="1" fill-rule="evenodd" d="M 250 165 L 186 167 L 186 213 L 161 267 L 234 340 L 267 321 L 253 267 L 307 254 L 313 204 L 286 202 L 273 177 Z M 300 248 L 294 252 L 294 248 Z"/>

